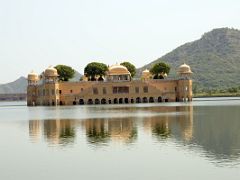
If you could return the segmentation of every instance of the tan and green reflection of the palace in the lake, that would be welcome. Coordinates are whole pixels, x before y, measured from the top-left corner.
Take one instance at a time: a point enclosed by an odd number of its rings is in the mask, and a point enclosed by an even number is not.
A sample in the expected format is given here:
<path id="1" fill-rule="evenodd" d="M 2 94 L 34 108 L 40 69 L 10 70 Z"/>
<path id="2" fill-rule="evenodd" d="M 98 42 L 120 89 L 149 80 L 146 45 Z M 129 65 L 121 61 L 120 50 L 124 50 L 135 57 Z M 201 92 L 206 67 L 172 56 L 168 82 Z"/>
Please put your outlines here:
<path id="1" fill-rule="evenodd" d="M 74 143 L 79 131 L 84 130 L 86 139 L 92 144 L 124 142 L 137 140 L 138 128 L 143 126 L 146 134 L 156 137 L 170 137 L 181 133 L 184 139 L 192 137 L 192 106 L 147 107 L 147 117 L 93 118 L 93 119 L 56 119 L 29 121 L 29 135 L 32 142 L 38 142 L 41 135 L 51 144 Z M 124 108 L 126 111 L 127 108 Z M 129 107 L 129 110 L 132 109 Z M 151 113 L 155 113 L 151 116 Z M 156 113 L 160 113 L 156 115 Z M 80 128 L 78 128 L 80 127 Z"/>

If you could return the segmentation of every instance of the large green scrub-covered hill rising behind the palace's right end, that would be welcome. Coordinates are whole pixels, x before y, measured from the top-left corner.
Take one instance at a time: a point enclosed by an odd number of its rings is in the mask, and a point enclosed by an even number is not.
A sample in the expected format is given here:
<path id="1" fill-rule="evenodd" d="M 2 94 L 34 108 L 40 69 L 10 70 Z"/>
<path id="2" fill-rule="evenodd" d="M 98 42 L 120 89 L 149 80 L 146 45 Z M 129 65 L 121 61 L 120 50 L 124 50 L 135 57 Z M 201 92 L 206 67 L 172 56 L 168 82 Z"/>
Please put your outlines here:
<path id="1" fill-rule="evenodd" d="M 171 66 L 169 77 L 183 62 L 192 68 L 198 90 L 227 89 L 240 85 L 240 31 L 220 28 L 205 33 L 201 39 L 186 43 L 163 57 L 138 69 L 138 76 L 159 61 Z"/>

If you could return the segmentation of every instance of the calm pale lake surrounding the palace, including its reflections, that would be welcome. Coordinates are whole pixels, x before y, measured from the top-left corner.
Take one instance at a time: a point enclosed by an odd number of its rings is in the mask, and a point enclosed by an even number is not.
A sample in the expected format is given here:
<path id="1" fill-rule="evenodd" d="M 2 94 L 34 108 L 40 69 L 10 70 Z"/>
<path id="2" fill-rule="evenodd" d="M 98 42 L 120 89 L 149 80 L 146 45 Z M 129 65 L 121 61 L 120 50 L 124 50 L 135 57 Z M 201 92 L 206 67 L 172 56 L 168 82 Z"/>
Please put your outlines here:
<path id="1" fill-rule="evenodd" d="M 240 98 L 27 107 L 0 102 L 1 180 L 239 179 Z"/>

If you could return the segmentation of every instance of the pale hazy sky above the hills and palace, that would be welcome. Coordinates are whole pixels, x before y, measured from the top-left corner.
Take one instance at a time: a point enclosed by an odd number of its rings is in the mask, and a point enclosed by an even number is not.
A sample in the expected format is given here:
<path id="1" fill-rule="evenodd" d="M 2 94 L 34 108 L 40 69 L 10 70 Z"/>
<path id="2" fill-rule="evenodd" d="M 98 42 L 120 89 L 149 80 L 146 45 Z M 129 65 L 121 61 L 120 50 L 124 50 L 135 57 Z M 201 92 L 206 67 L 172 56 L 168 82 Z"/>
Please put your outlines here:
<path id="1" fill-rule="evenodd" d="M 57 64 L 141 67 L 239 18 L 238 0 L 0 0 L 0 84 Z"/>

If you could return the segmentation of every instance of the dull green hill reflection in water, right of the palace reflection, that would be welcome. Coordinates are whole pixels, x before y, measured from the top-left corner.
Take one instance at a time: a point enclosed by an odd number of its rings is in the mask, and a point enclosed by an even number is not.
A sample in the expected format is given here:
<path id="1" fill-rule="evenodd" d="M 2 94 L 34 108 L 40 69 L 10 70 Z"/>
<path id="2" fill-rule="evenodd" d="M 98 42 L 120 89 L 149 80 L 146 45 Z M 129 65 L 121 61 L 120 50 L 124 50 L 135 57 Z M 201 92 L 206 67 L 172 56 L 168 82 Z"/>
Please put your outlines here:
<path id="1" fill-rule="evenodd" d="M 240 155 L 239 107 L 197 107 L 194 115 L 194 143 L 216 159 L 235 159 Z"/>

